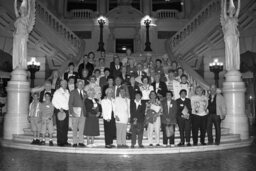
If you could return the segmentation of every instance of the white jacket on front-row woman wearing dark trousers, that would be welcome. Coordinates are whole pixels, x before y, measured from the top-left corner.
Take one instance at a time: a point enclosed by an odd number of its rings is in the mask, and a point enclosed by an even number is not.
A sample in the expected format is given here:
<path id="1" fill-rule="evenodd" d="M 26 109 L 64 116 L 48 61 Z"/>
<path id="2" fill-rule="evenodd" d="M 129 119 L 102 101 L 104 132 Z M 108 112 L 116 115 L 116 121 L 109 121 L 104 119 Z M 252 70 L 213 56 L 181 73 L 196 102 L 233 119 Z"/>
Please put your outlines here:
<path id="1" fill-rule="evenodd" d="M 110 120 L 112 116 L 112 111 L 114 111 L 115 108 L 115 101 L 114 99 L 103 99 L 101 101 L 101 107 L 102 107 L 102 117 L 104 120 Z"/>

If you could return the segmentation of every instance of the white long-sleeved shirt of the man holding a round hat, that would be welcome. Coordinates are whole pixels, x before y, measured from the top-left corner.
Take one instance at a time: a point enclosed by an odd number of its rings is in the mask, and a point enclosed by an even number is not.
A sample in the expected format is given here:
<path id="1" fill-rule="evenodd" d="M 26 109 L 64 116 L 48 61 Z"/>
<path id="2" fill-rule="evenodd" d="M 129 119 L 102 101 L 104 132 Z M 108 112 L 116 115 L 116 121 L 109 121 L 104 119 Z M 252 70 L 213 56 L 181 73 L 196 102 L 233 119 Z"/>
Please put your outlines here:
<path id="1" fill-rule="evenodd" d="M 63 88 L 55 91 L 52 98 L 52 104 L 56 109 L 68 110 L 69 92 Z"/>

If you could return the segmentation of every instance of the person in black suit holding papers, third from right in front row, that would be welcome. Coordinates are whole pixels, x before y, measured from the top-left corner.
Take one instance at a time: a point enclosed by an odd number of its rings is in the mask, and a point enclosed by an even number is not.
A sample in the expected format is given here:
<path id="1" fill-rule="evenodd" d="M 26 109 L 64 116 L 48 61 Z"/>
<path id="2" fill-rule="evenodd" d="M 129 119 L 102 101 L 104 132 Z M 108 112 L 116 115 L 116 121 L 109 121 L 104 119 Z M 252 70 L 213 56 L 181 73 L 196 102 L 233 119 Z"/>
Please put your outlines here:
<path id="1" fill-rule="evenodd" d="M 177 102 L 177 122 L 180 131 L 180 143 L 178 146 L 184 146 L 185 139 L 186 145 L 191 146 L 190 144 L 190 137 L 191 137 L 191 121 L 190 121 L 190 114 L 191 114 L 191 101 L 189 98 L 186 98 L 187 90 L 182 89 L 180 90 L 180 98 L 176 100 Z M 186 109 L 185 109 L 186 108 Z"/>

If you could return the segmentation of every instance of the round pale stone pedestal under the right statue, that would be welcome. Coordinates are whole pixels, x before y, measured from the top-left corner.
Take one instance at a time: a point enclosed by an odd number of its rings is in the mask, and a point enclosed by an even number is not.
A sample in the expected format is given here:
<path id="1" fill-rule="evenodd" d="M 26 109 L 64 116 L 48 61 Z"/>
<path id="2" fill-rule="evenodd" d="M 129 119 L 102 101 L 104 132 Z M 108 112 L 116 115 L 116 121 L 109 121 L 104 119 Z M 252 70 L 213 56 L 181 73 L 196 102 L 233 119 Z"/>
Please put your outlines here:
<path id="1" fill-rule="evenodd" d="M 248 117 L 245 113 L 245 84 L 239 71 L 229 71 L 223 83 L 223 92 L 227 105 L 227 116 L 222 126 L 241 139 L 249 138 Z"/>

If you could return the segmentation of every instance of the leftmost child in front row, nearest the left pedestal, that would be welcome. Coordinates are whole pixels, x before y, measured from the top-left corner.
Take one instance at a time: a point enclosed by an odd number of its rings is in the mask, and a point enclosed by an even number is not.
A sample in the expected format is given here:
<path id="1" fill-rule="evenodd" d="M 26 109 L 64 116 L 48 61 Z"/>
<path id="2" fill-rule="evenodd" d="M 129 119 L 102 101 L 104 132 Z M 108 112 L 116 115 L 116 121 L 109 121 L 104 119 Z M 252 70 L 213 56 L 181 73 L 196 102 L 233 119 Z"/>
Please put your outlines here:
<path id="1" fill-rule="evenodd" d="M 32 95 L 33 101 L 29 105 L 28 120 L 31 123 L 31 130 L 33 132 L 33 141 L 31 144 L 40 144 L 39 131 L 40 131 L 40 118 L 39 118 L 39 94 Z"/>

